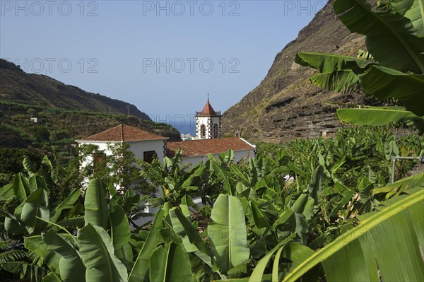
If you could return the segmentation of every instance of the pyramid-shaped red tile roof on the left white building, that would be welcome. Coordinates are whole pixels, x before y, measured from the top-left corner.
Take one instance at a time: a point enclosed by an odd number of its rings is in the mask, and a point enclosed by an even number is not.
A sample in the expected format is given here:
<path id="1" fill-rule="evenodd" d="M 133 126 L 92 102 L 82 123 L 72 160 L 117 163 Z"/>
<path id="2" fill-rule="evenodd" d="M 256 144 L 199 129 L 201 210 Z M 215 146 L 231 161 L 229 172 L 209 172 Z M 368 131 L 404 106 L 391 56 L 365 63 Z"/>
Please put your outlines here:
<path id="1" fill-rule="evenodd" d="M 82 139 L 81 141 L 145 141 L 145 140 L 165 140 L 167 137 L 151 134 L 136 127 L 126 124 L 119 124 L 116 127 L 107 129 L 98 134 Z"/>

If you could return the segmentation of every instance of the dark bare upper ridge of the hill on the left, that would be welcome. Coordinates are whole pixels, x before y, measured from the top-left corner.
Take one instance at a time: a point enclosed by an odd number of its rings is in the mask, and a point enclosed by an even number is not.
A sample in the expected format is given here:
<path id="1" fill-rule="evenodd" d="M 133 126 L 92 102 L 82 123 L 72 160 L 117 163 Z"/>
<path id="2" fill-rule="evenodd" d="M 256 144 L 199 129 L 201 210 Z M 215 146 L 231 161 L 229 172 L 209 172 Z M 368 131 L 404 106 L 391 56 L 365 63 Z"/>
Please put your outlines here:
<path id="1" fill-rule="evenodd" d="M 135 105 L 66 85 L 49 76 L 26 74 L 15 64 L 0 59 L 0 98 L 33 105 L 129 114 L 150 120 Z M 129 108 L 128 108 L 129 107 Z"/>

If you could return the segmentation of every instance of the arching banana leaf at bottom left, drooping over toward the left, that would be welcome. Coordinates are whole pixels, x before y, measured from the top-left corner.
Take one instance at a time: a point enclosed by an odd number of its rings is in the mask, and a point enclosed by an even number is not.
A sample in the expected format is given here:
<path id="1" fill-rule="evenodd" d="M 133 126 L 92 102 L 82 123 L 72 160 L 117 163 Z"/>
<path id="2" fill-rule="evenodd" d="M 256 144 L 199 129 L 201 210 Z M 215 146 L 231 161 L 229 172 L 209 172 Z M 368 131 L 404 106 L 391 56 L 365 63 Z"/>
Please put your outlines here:
<path id="1" fill-rule="evenodd" d="M 42 233 L 42 240 L 47 245 L 47 250 L 56 252 L 61 256 L 59 260 L 60 278 L 63 281 L 86 281 L 86 267 L 78 251 L 63 237 L 49 230 Z"/>

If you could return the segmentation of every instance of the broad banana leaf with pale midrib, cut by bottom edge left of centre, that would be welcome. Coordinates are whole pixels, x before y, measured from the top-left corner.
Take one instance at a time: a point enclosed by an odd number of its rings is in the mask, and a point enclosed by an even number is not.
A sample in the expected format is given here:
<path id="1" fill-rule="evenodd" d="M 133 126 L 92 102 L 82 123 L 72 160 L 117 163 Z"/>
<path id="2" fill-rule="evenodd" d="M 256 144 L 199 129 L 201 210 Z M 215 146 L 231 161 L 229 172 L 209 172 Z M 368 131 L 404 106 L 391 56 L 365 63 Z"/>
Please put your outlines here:
<path id="1" fill-rule="evenodd" d="M 153 250 L 150 260 L 150 281 L 193 281 L 189 254 L 182 244 L 170 242 Z"/>

